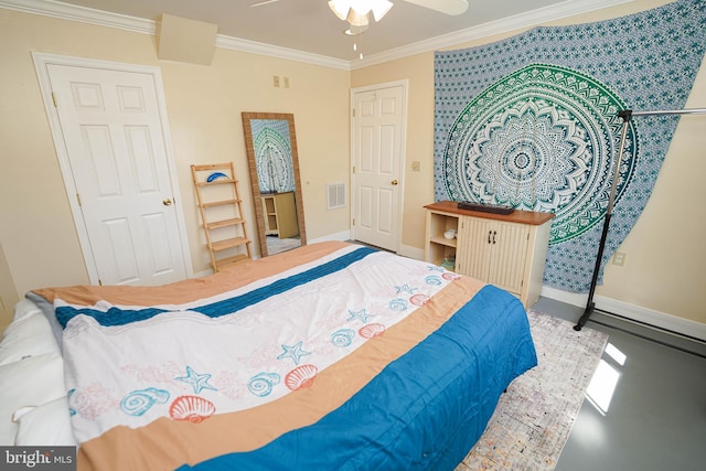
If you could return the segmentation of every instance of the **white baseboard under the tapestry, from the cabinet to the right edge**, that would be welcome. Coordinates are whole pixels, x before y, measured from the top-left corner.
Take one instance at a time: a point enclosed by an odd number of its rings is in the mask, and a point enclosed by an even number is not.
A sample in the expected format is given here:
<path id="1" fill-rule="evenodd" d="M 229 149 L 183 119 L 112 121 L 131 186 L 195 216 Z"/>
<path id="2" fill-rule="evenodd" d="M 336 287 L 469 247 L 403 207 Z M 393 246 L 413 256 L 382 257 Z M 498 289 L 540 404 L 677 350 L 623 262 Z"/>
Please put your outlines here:
<path id="1" fill-rule="evenodd" d="M 542 296 L 556 301 L 566 302 L 567 304 L 578 306 L 580 308 L 585 308 L 588 302 L 588 295 L 561 291 L 546 286 L 542 287 Z M 630 304 L 628 302 L 603 296 L 595 296 L 593 302 L 596 304 L 596 309 L 601 311 L 612 312 L 648 327 L 672 331 L 681 335 L 706 342 L 706 324 L 704 323 L 678 318 L 676 315 L 643 308 L 641 306 Z"/>

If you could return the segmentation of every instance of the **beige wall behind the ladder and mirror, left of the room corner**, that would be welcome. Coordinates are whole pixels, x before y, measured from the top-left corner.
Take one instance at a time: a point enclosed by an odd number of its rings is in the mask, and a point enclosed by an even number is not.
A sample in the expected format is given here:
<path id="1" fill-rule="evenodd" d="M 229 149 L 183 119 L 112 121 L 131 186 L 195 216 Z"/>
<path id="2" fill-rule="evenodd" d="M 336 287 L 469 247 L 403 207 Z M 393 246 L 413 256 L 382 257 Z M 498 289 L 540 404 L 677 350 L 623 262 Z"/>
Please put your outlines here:
<path id="1" fill-rule="evenodd" d="M 194 272 L 207 270 L 208 255 L 190 164 L 235 162 L 256 234 L 242 111 L 295 115 L 307 235 L 349 229 L 347 208 L 325 207 L 325 184 L 349 181 L 347 71 L 223 49 L 211 66 L 159 61 L 152 35 L 0 9 L 0 245 L 19 297 L 88 282 L 32 51 L 161 68 Z M 275 88 L 274 75 L 290 88 Z"/>

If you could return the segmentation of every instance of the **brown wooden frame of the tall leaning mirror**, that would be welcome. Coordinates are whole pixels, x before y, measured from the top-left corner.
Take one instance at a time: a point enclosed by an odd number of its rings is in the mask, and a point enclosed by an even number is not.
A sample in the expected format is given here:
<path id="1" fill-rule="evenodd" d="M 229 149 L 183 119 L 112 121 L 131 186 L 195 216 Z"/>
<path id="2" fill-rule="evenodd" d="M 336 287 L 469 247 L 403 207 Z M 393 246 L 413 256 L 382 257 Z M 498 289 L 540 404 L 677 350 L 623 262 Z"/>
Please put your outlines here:
<path id="1" fill-rule="evenodd" d="M 295 207 L 297 210 L 297 224 L 301 246 L 307 245 L 307 231 L 304 224 L 304 205 L 301 197 L 301 180 L 299 179 L 299 154 L 297 152 L 297 135 L 295 132 L 295 115 L 288 113 L 249 113 L 243 111 L 243 130 L 245 132 L 245 148 L 247 151 L 247 164 L 250 170 L 250 189 L 255 203 L 255 218 L 257 220 L 257 237 L 260 245 L 260 257 L 267 257 L 267 236 L 265 235 L 265 220 L 263 214 L 263 201 L 260 197 L 259 180 L 255 162 L 255 147 L 253 143 L 252 120 L 255 119 L 281 119 L 286 120 L 289 128 L 289 144 L 295 172 Z"/>

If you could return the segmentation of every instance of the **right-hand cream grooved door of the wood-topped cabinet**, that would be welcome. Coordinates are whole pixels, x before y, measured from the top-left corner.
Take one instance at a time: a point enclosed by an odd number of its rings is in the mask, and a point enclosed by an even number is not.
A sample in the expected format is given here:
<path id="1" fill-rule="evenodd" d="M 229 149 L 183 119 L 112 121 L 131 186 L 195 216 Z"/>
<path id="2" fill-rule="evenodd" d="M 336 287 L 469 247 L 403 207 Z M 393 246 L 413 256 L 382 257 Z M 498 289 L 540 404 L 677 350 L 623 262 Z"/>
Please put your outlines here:
<path id="1" fill-rule="evenodd" d="M 488 282 L 520 295 L 525 277 L 530 227 L 494 221 L 489 235 L 491 260 Z"/>

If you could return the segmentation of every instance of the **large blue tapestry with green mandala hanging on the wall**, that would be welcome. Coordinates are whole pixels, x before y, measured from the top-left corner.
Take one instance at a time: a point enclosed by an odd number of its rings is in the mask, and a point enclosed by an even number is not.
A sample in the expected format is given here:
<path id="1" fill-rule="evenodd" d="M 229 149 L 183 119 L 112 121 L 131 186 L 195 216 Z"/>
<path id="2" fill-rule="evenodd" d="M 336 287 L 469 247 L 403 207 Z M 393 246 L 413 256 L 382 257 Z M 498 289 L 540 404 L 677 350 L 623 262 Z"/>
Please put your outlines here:
<path id="1" fill-rule="evenodd" d="M 437 52 L 435 200 L 554 213 L 544 282 L 587 292 L 619 150 L 617 114 L 683 108 L 705 50 L 706 1 L 682 0 Z M 602 263 L 644 208 L 677 121 L 630 122 Z"/>

